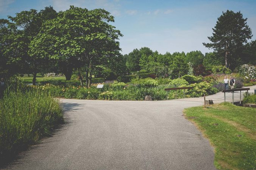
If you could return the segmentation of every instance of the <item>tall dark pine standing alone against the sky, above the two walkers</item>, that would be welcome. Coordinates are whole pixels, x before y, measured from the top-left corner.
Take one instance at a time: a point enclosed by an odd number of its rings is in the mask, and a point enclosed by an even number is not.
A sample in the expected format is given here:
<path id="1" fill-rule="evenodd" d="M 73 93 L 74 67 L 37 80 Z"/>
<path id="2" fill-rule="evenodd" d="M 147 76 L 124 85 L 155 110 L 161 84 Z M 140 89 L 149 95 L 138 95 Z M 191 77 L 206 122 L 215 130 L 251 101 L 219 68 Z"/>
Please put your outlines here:
<path id="1" fill-rule="evenodd" d="M 208 48 L 225 57 L 225 66 L 230 67 L 235 58 L 242 51 L 243 44 L 252 37 L 251 29 L 247 25 L 247 18 L 243 14 L 227 10 L 222 12 L 215 27 L 212 29 L 212 43 L 203 43 Z"/>

